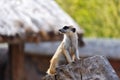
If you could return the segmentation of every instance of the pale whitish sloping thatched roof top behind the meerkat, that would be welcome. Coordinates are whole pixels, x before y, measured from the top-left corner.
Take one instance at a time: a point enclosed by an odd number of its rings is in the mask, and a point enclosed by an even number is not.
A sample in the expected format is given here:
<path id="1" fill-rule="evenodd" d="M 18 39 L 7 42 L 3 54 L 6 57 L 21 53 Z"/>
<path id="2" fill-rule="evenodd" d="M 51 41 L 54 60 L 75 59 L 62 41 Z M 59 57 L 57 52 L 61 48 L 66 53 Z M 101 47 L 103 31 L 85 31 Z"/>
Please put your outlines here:
<path id="1" fill-rule="evenodd" d="M 0 1 L 0 42 L 4 36 L 25 38 L 34 33 L 56 33 L 64 25 L 73 25 L 83 33 L 54 0 Z"/>

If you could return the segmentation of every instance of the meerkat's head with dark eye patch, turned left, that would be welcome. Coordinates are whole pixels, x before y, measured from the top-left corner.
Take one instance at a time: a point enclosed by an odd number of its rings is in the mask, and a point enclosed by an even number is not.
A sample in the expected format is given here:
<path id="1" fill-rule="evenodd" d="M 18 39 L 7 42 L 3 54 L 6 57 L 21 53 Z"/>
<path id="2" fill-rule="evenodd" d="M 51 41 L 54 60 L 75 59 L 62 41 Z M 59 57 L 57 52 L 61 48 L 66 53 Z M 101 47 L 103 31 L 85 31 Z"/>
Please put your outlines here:
<path id="1" fill-rule="evenodd" d="M 64 26 L 62 29 L 59 29 L 59 32 L 62 34 L 71 34 L 76 32 L 76 28 L 73 26 Z"/>

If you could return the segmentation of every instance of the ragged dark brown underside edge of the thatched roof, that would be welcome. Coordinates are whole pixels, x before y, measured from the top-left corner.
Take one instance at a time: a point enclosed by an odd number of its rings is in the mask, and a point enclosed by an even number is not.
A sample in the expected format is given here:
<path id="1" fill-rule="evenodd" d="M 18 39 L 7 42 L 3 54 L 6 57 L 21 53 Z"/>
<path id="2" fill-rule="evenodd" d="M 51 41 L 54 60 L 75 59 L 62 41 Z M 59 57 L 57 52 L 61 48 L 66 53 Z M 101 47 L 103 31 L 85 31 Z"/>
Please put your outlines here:
<path id="1" fill-rule="evenodd" d="M 83 46 L 84 41 L 82 40 L 83 34 L 78 33 L 79 45 Z M 9 43 L 9 44 L 18 44 L 21 42 L 30 42 L 30 43 L 38 43 L 38 42 L 47 42 L 47 41 L 61 41 L 63 39 L 63 35 L 59 33 L 55 33 L 54 31 L 40 31 L 38 33 L 30 34 L 26 33 L 24 36 L 15 35 L 15 36 L 6 36 L 0 35 L 0 43 Z"/>

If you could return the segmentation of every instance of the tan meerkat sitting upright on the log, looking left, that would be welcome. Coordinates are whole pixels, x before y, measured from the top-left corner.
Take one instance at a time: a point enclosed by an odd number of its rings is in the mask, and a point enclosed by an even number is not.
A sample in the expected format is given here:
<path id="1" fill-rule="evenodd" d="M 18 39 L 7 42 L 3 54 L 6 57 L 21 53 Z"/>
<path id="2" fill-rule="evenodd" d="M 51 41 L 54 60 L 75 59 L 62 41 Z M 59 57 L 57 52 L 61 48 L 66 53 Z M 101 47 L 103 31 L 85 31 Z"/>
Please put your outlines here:
<path id="1" fill-rule="evenodd" d="M 62 29 L 59 29 L 59 32 L 64 35 L 63 41 L 57 48 L 55 54 L 50 60 L 50 67 L 47 70 L 49 75 L 54 75 L 56 72 L 56 67 L 58 66 L 59 60 L 65 56 L 68 63 L 71 63 L 75 60 L 79 60 L 78 52 L 78 36 L 76 28 L 73 26 L 64 26 Z"/>

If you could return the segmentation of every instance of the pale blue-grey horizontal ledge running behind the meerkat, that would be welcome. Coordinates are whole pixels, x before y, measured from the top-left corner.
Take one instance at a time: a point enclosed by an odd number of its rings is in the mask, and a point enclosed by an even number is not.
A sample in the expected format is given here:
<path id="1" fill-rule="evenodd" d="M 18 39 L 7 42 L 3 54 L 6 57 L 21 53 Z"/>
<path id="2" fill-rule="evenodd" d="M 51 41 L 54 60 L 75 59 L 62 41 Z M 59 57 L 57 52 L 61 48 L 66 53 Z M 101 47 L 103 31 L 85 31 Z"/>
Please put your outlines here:
<path id="1" fill-rule="evenodd" d="M 44 42 L 38 44 L 27 43 L 25 52 L 29 54 L 39 54 L 52 56 L 61 41 Z M 80 57 L 93 55 L 103 55 L 110 59 L 120 60 L 120 39 L 107 38 L 84 38 L 85 46 L 79 47 Z"/>

